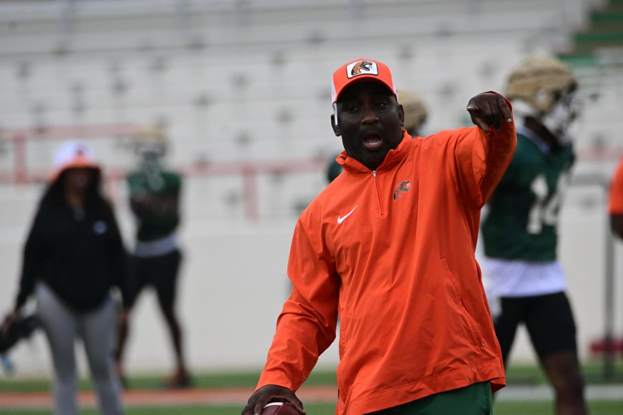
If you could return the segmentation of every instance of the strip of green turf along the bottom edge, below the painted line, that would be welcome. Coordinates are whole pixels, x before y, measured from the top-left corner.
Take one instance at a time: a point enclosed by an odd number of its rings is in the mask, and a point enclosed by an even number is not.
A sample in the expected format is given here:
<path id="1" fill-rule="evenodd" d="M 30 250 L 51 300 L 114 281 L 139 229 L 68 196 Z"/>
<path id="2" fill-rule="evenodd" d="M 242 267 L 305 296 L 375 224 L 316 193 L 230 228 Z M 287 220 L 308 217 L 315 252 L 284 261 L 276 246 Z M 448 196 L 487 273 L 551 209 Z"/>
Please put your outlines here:
<path id="1" fill-rule="evenodd" d="M 589 403 L 592 415 L 621 415 L 623 400 L 621 401 L 593 401 Z M 333 415 L 333 404 L 307 404 L 309 415 Z M 242 406 L 177 406 L 166 408 L 131 408 L 126 415 L 236 415 L 242 411 Z M 495 415 L 551 415 L 552 406 L 547 402 L 500 402 L 493 410 Z M 50 411 L 2 411 L 0 414 L 11 415 L 52 415 Z M 95 409 L 80 411 L 80 415 L 97 415 Z"/>

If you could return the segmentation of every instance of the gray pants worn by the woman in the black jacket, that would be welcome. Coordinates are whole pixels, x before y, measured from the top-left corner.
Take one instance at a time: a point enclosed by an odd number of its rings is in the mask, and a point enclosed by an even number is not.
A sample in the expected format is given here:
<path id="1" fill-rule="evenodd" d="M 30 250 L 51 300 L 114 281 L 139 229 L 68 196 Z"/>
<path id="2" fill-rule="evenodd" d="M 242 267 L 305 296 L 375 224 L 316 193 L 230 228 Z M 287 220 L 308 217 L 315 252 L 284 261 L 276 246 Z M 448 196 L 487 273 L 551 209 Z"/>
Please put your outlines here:
<path id="1" fill-rule="evenodd" d="M 54 361 L 54 414 L 77 415 L 75 338 L 82 338 L 103 415 L 123 414 L 121 384 L 113 350 L 117 335 L 117 305 L 108 297 L 100 307 L 77 313 L 45 284 L 37 285 L 37 314 Z"/>

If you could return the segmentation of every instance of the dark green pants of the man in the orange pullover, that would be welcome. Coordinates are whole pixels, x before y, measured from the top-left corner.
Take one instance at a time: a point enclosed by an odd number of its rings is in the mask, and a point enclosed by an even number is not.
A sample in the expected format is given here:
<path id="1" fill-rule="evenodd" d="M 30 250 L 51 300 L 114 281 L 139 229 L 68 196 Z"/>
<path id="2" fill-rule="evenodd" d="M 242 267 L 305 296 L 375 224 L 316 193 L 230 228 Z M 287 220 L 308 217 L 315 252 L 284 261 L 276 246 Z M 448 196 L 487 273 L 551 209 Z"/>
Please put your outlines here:
<path id="1" fill-rule="evenodd" d="M 474 383 L 465 388 L 435 393 L 426 398 L 383 409 L 369 415 L 492 415 L 491 384 Z"/>

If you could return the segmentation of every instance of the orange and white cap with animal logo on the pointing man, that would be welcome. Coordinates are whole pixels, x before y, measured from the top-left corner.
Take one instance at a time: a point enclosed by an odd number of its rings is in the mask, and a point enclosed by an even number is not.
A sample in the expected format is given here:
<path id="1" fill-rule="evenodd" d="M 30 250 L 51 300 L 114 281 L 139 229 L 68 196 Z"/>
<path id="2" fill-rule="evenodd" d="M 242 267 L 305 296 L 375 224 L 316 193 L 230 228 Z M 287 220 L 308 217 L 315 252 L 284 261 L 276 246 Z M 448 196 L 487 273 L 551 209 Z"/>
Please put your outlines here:
<path id="1" fill-rule="evenodd" d="M 333 72 L 333 78 L 331 79 L 331 103 L 336 103 L 346 86 L 362 81 L 384 83 L 396 95 L 396 98 L 398 97 L 388 65 L 378 60 L 357 59 L 346 63 L 346 65 Z"/>

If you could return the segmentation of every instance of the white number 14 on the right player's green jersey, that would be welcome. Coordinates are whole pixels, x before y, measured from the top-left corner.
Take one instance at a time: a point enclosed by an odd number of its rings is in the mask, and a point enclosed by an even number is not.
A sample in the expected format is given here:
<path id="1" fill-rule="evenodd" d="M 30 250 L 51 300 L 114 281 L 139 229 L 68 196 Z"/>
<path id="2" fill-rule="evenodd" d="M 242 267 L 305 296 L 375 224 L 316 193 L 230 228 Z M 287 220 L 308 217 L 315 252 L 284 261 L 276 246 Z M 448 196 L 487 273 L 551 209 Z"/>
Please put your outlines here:
<path id="1" fill-rule="evenodd" d="M 528 233 L 538 235 L 543 230 L 543 225 L 554 226 L 554 231 L 556 231 L 558 211 L 569 184 L 568 177 L 569 175 L 565 173 L 558 176 L 556 189 L 549 197 L 545 174 L 540 174 L 532 180 L 530 190 L 535 195 L 535 201 L 530 207 L 530 212 L 528 212 L 528 226 L 526 227 Z"/>

